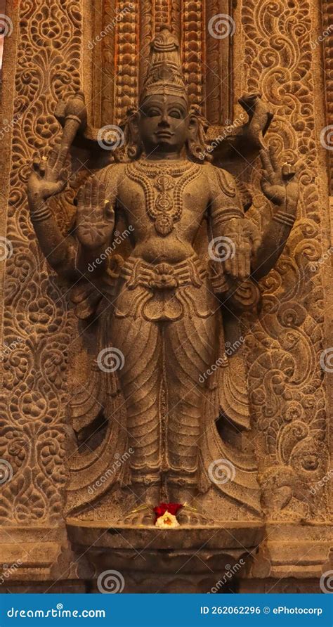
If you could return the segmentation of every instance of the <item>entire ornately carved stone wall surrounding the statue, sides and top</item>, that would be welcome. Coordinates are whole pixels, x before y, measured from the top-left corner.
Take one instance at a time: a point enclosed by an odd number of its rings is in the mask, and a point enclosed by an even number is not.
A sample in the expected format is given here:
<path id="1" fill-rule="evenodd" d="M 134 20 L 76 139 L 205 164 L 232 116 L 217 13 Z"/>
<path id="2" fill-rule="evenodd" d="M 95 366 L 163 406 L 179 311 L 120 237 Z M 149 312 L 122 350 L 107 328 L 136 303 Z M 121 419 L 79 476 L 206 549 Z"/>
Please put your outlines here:
<path id="1" fill-rule="evenodd" d="M 129 4 L 104 0 L 103 17 L 93 27 L 95 35 L 105 22 L 115 19 L 116 8 L 122 11 Z M 91 80 L 100 86 L 96 93 L 101 94 L 93 108 L 94 124 L 116 122 L 135 101 L 147 57 L 143 54 L 139 65 L 133 65 L 131 59 L 150 39 L 155 18 L 156 22 L 171 20 L 176 30 L 185 30 L 183 55 L 193 101 L 200 103 L 211 90 L 216 98 L 209 98 L 205 110 L 211 122 L 231 117 L 228 39 L 221 40 L 223 43 L 211 41 L 202 29 L 209 16 L 230 14 L 230 6 L 211 1 L 204 9 L 203 3 L 197 2 L 144 0 L 138 11 L 138 3 L 133 4 L 134 10 L 125 13 L 126 40 L 125 22 L 119 20 L 103 37 L 100 48 L 93 46 L 95 74 Z M 48 531 L 42 540 L 40 531 L 34 534 L 34 527 L 49 530 L 63 525 L 65 453 L 70 433 L 67 368 L 73 328 L 65 287 L 39 252 L 27 213 L 25 186 L 34 152 L 43 150 L 58 134 L 53 117 L 56 101 L 83 85 L 81 61 L 88 46 L 83 40 L 84 6 L 81 0 L 22 0 L 19 4 L 9 1 L 6 9 L 13 18 L 15 37 L 5 42 L 3 105 L 4 115 L 14 122 L 4 136 L 1 167 L 0 226 L 8 253 L 1 261 L 0 458 L 5 461 L 4 472 L 13 477 L 1 484 L 0 521 L 6 528 L 2 542 L 13 543 L 15 555 L 20 555 L 23 537 L 22 532 L 15 535 L 17 526 L 30 529 L 24 537 L 34 550 L 40 541 L 41 554 L 39 545 L 34 560 L 29 558 L 39 568 L 45 550 L 50 552 L 50 564 L 56 559 L 54 545 L 46 547 L 55 536 Z M 272 576 L 278 572 L 281 545 L 287 538 L 294 538 L 295 544 L 301 533 L 299 525 L 291 529 L 290 524 L 329 522 L 332 508 L 327 484 L 319 483 L 329 470 L 328 424 L 332 415 L 324 384 L 327 373 L 320 358 L 333 340 L 327 335 L 325 320 L 327 287 L 323 290 L 329 263 L 329 256 L 325 257 L 329 246 L 327 154 L 320 152 L 318 139 L 325 122 L 315 87 L 321 80 L 321 47 L 311 46 L 315 41 L 311 33 L 320 34 L 321 29 L 316 9 L 315 2 L 301 0 L 287 4 L 282 0 L 275 4 L 247 0 L 237 8 L 237 15 L 242 14 L 235 38 L 237 56 L 244 50 L 242 89 L 261 91 L 272 103 L 275 119 L 270 140 L 282 162 L 294 162 L 296 154 L 302 189 L 299 220 L 278 268 L 261 285 L 265 292 L 263 309 L 259 321 L 252 321 L 247 337 L 252 354 L 252 438 L 259 458 L 263 506 L 275 538 L 270 555 L 265 556 L 270 564 L 275 559 Z M 190 51 L 188 41 L 194 41 L 194 51 Z M 200 46 L 204 46 L 206 56 L 196 73 L 191 63 L 196 65 L 202 56 Z M 112 65 L 116 51 L 117 69 Z M 223 69 L 224 59 L 228 70 Z M 202 86 L 207 65 L 214 75 L 208 75 Z M 11 74 L 13 67 L 15 76 Z M 215 82 L 219 72 L 226 72 L 222 83 Z M 121 76 L 116 77 L 119 73 Z M 122 81 L 125 74 L 130 76 L 126 82 Z M 221 103 L 225 91 L 228 108 L 222 108 Z M 238 95 L 233 94 L 231 101 Z M 257 164 L 254 186 L 259 186 L 259 170 Z M 251 209 L 257 220 L 261 213 L 258 199 L 254 195 Z M 274 526 L 277 520 L 286 522 L 280 535 Z M 301 529 L 306 536 L 308 527 Z M 322 529 L 322 552 L 320 549 L 313 558 L 318 564 L 329 545 L 328 527 Z M 313 545 L 318 545 L 318 537 L 313 534 L 311 538 Z M 1 560 L 9 562 L 13 554 L 8 555 Z M 290 559 L 296 563 L 296 553 Z M 291 563 L 289 572 L 292 567 Z M 256 576 L 267 576 L 270 567 L 258 568 Z M 42 576 L 46 578 L 49 573 L 43 571 Z"/>

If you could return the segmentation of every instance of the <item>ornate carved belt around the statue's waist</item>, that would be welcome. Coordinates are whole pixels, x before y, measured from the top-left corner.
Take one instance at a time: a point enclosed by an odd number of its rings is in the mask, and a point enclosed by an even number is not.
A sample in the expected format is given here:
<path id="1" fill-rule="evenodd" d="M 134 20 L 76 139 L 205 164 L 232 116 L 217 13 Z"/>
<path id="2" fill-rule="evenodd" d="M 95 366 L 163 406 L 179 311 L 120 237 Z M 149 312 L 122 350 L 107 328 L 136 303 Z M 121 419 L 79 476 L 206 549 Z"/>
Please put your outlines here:
<path id="1" fill-rule="evenodd" d="M 126 278 L 127 287 L 133 290 L 138 285 L 152 290 L 172 290 L 174 287 L 194 285 L 200 287 L 207 271 L 200 260 L 193 256 L 179 264 L 147 264 L 142 259 L 129 259 L 122 266 L 121 276 Z"/>

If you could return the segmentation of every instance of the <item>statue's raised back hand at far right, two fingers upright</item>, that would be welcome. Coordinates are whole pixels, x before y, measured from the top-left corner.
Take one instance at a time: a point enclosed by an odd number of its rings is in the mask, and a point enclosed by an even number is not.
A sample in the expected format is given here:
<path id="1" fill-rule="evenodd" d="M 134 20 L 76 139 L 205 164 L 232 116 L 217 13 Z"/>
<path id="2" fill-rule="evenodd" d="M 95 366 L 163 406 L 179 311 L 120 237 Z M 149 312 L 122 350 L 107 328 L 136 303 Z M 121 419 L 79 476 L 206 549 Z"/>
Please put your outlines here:
<path id="1" fill-rule="evenodd" d="M 263 165 L 261 179 L 263 193 L 273 205 L 284 207 L 287 212 L 294 215 L 299 200 L 299 184 L 294 179 L 295 170 L 288 164 L 280 167 L 273 146 L 270 146 L 269 150 L 261 150 L 260 156 Z"/>

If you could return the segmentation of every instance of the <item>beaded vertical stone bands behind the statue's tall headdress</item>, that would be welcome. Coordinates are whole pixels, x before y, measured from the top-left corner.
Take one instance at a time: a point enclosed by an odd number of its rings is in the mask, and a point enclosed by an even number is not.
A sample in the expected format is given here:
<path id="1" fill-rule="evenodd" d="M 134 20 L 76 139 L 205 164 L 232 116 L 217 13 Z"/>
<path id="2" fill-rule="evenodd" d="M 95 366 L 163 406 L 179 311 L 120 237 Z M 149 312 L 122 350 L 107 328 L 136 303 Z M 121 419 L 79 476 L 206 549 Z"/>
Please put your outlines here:
<path id="1" fill-rule="evenodd" d="M 233 13 L 232 0 L 96 0 L 89 42 L 100 94 L 94 125 L 117 124 L 136 105 L 149 41 L 166 23 L 181 41 L 192 104 L 211 124 L 233 119 L 233 37 L 226 36 L 235 30 Z"/>

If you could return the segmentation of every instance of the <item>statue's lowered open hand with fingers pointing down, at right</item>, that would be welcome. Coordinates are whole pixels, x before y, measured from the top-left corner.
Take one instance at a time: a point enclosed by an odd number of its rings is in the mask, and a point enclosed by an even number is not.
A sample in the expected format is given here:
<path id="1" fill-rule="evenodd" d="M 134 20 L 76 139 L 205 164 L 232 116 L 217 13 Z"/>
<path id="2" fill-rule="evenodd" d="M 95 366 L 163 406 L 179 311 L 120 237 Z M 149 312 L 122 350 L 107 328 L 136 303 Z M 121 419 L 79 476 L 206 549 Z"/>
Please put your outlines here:
<path id="1" fill-rule="evenodd" d="M 224 225 L 223 233 L 227 238 L 224 271 L 233 279 L 245 280 L 251 273 L 251 261 L 261 243 L 259 231 L 246 218 L 234 218 Z"/>

